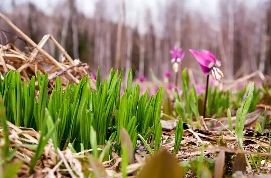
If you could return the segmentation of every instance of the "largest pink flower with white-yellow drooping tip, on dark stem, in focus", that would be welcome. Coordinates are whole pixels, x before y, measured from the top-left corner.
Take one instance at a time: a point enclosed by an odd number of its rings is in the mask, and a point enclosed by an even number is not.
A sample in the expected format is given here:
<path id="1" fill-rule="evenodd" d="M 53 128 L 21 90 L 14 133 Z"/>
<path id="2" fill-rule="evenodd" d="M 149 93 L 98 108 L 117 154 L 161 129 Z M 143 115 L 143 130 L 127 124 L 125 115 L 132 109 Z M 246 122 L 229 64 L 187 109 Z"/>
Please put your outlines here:
<path id="1" fill-rule="evenodd" d="M 219 69 L 221 62 L 210 51 L 202 50 L 202 53 L 192 49 L 189 49 L 189 51 L 194 55 L 205 75 L 211 73 L 215 80 L 220 80 L 224 76 Z"/>

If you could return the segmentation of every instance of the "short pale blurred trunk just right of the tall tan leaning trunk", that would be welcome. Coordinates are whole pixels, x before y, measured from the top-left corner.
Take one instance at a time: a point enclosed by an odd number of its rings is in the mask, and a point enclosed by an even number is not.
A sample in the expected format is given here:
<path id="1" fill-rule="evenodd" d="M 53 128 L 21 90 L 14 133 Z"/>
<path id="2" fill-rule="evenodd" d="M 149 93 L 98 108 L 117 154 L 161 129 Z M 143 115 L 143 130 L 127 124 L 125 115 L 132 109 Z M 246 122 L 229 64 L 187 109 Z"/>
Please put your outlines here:
<path id="1" fill-rule="evenodd" d="M 126 82 L 127 82 L 128 72 L 132 64 L 132 60 L 131 60 L 132 51 L 133 51 L 133 29 L 130 27 L 127 27 L 127 59 L 126 59 L 126 70 L 125 70 Z"/>

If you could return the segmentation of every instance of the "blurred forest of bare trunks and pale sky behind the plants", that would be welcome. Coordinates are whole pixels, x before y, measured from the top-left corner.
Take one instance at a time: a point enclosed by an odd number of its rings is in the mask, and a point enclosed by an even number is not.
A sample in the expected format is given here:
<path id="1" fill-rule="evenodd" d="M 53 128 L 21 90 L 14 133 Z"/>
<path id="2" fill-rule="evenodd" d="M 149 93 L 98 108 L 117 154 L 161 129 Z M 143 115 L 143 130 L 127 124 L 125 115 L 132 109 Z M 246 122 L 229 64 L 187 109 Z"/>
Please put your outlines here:
<path id="1" fill-rule="evenodd" d="M 271 0 L 0 0 L 0 11 L 36 43 L 50 33 L 73 59 L 94 72 L 100 65 L 103 76 L 132 67 L 136 77 L 150 79 L 152 69 L 161 78 L 174 45 L 186 51 L 181 68 L 199 78 L 190 48 L 214 53 L 225 79 L 271 75 Z M 2 20 L 0 30 L 3 44 L 15 37 Z M 44 49 L 61 60 L 53 43 Z"/>

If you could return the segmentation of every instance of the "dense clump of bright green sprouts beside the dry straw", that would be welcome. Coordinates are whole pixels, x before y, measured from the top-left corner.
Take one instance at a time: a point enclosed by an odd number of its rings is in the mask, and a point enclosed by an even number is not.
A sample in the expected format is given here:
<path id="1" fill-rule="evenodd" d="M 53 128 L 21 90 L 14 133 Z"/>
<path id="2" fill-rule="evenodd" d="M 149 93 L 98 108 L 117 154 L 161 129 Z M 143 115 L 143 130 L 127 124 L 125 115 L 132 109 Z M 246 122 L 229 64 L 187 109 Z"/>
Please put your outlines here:
<path id="1" fill-rule="evenodd" d="M 121 151 L 120 135 L 124 128 L 129 133 L 133 150 L 138 137 L 142 143 L 148 145 L 151 142 L 153 148 L 158 149 L 162 132 L 162 87 L 154 96 L 149 97 L 146 91 L 140 97 L 140 86 L 132 87 L 130 69 L 127 87 L 121 97 L 123 70 L 111 69 L 103 82 L 100 82 L 100 69 L 97 71 L 97 91 L 91 90 L 88 76 L 78 85 L 68 83 L 65 89 L 57 77 L 50 97 L 47 73 L 37 73 L 38 87 L 34 76 L 28 85 L 25 81 L 21 84 L 17 71 L 9 71 L 4 76 L 0 83 L 2 108 L 6 108 L 4 117 L 16 126 L 40 131 L 43 138 L 35 148 L 32 168 L 49 138 L 56 150 L 67 146 L 74 151 L 92 148 L 92 154 L 97 157 L 97 145 L 114 142 L 113 148 Z"/>

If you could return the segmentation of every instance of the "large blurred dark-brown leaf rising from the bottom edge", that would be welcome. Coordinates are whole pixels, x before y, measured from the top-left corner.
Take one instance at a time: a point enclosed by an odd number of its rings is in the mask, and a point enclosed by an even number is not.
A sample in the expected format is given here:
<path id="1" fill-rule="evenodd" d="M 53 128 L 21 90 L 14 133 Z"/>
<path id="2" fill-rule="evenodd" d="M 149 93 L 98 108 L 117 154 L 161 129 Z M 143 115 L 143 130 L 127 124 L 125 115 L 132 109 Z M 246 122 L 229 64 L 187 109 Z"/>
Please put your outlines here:
<path id="1" fill-rule="evenodd" d="M 162 150 L 147 160 L 137 178 L 183 178 L 183 168 L 173 154 Z"/>

